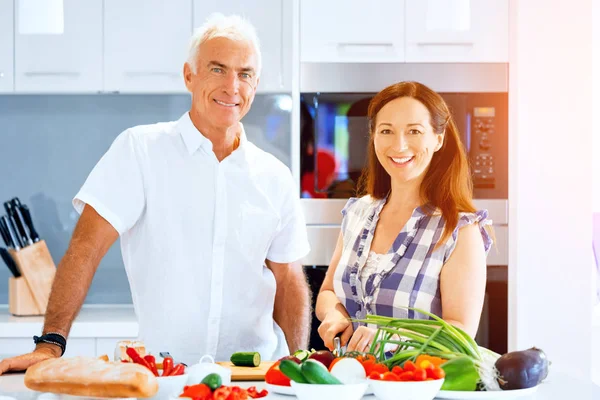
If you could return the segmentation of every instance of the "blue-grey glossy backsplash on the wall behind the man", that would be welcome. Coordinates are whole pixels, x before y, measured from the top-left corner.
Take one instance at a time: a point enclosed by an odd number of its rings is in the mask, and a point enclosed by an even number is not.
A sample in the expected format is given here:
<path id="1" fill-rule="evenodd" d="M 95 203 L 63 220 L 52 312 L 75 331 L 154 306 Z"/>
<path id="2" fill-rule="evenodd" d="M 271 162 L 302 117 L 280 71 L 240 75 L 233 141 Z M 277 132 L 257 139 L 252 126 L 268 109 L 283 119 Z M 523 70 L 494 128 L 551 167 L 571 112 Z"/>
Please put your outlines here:
<path id="1" fill-rule="evenodd" d="M 29 206 L 58 265 L 79 218 L 71 200 L 116 136 L 176 120 L 189 105 L 187 95 L 0 96 L 0 201 L 18 196 Z M 290 109 L 289 95 L 260 95 L 242 121 L 250 141 L 288 166 Z M 0 265 L 0 304 L 8 302 L 9 276 Z M 102 260 L 86 303 L 131 303 L 119 242 Z"/>

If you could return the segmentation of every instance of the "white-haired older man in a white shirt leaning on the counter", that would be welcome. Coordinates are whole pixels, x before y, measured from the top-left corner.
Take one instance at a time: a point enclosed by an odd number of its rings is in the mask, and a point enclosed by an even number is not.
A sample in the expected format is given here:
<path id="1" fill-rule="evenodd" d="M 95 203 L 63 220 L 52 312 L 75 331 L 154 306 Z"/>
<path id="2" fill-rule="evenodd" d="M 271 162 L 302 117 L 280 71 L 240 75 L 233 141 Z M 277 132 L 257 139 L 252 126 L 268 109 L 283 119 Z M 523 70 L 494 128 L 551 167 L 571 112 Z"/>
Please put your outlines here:
<path id="1" fill-rule="evenodd" d="M 285 165 L 248 141 L 240 120 L 259 83 L 253 27 L 212 17 L 184 65 L 192 105 L 178 121 L 121 133 L 74 199 L 81 217 L 61 260 L 23 370 L 64 352 L 106 251 L 121 238 L 147 349 L 195 363 L 236 351 L 276 359 L 305 348 L 309 293 L 298 260 L 309 246 Z"/>

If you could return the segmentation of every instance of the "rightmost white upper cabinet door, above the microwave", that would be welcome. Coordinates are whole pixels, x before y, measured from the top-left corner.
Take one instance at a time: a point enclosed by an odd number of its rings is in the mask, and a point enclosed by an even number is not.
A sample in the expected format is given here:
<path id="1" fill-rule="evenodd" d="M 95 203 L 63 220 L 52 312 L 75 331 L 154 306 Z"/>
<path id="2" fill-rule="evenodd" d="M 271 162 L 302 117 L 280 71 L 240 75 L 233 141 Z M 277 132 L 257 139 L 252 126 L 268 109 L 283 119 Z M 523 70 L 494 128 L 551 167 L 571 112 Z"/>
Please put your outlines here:
<path id="1" fill-rule="evenodd" d="M 509 0 L 406 0 L 407 62 L 508 62 Z"/>

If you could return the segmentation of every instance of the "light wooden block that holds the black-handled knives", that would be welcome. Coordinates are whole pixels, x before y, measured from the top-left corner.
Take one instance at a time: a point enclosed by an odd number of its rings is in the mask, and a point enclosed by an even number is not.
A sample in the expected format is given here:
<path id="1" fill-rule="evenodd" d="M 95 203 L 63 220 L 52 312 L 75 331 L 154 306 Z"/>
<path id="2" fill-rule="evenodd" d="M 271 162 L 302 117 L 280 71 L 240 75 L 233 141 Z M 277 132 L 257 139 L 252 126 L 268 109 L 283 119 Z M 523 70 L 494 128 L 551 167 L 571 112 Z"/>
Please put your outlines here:
<path id="1" fill-rule="evenodd" d="M 15 316 L 44 315 L 54 282 L 56 266 L 46 246 L 37 243 L 16 251 L 9 249 L 21 276 L 9 278 L 8 310 Z"/>

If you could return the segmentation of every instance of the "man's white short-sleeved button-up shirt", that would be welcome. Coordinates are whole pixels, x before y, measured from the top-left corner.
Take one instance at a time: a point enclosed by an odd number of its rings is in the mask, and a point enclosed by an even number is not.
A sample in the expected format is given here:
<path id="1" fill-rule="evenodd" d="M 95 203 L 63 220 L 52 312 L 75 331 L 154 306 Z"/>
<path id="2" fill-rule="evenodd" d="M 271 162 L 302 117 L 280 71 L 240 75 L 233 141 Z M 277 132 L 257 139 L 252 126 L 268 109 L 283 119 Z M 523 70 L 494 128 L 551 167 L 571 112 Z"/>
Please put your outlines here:
<path id="1" fill-rule="evenodd" d="M 196 363 L 258 351 L 289 354 L 273 320 L 275 278 L 264 261 L 309 252 L 289 169 L 250 143 L 220 163 L 185 113 L 121 133 L 73 199 L 120 234 L 139 339 Z"/>

